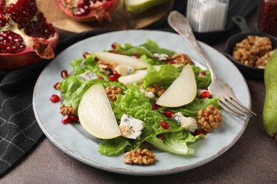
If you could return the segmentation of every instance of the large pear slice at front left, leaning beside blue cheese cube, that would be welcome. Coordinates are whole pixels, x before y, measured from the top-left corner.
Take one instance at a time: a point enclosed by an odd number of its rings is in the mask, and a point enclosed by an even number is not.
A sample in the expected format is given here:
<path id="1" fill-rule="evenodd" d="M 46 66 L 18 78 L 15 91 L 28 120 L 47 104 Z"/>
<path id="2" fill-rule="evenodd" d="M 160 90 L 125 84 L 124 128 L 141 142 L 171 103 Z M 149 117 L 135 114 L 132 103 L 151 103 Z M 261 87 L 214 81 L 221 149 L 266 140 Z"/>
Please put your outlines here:
<path id="1" fill-rule="evenodd" d="M 112 139 L 121 134 L 102 84 L 94 84 L 84 93 L 78 116 L 84 130 L 94 137 Z"/>

